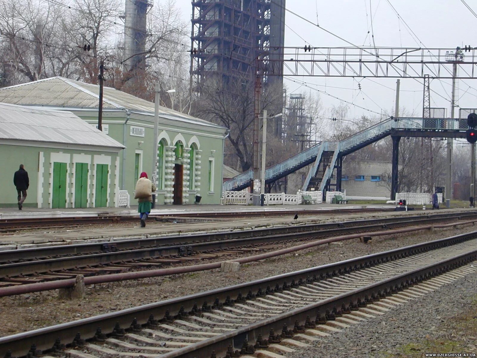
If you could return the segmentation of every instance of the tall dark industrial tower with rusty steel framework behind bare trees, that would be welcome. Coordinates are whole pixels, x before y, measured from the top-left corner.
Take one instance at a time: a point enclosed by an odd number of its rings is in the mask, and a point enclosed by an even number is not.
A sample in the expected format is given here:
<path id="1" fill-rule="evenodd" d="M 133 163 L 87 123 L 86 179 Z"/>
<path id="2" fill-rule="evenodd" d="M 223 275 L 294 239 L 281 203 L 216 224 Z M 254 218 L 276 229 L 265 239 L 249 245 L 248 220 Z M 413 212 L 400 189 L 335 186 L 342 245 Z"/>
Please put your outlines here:
<path id="1" fill-rule="evenodd" d="M 127 0 L 126 0 L 127 1 Z M 190 74 L 200 93 L 206 77 L 245 78 L 253 89 L 258 70 L 269 60 L 283 60 L 285 0 L 193 0 Z M 283 74 L 283 65 L 281 65 Z M 278 84 L 283 77 L 261 73 L 263 83 Z"/>

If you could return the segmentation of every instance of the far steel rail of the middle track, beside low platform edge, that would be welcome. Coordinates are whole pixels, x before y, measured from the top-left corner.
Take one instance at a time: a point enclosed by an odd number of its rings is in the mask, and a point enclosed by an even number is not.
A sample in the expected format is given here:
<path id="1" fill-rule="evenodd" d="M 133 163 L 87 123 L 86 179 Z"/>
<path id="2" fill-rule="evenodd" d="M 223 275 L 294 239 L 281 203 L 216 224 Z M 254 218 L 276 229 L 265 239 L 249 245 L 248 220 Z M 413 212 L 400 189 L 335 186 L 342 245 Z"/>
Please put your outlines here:
<path id="1" fill-rule="evenodd" d="M 149 237 L 149 238 L 133 238 L 126 240 L 116 240 L 113 242 L 94 242 L 72 245 L 52 245 L 48 247 L 31 248 L 31 249 L 19 249 L 19 250 L 6 250 L 0 251 L 0 263 L 12 263 L 20 260 L 37 260 L 47 257 L 65 256 L 65 255 L 79 255 L 89 253 L 104 253 L 111 251 L 131 250 L 146 247 L 163 247 L 170 245 L 185 245 L 187 243 L 195 242 L 207 242 L 207 241 L 220 241 L 230 239 L 241 239 L 247 237 L 266 236 L 274 234 L 295 234 L 299 232 L 311 232 L 311 231 L 324 231 L 332 229 L 344 229 L 365 225 L 393 225 L 398 222 L 432 222 L 439 220 L 450 219 L 466 219 L 471 217 L 477 217 L 477 211 L 464 211 L 457 213 L 444 213 L 444 214 L 425 214 L 425 215 L 413 215 L 413 216 L 396 216 L 381 219 L 367 219 L 367 220 L 352 220 L 342 222 L 331 223 L 319 223 L 319 224 L 306 224 L 306 225 L 293 225 L 293 226 L 280 226 L 272 228 L 259 228 L 253 230 L 237 230 L 237 231 L 222 231 L 213 233 L 202 234 L 182 234 L 162 237 Z M 340 231 L 335 231 L 338 234 Z"/>

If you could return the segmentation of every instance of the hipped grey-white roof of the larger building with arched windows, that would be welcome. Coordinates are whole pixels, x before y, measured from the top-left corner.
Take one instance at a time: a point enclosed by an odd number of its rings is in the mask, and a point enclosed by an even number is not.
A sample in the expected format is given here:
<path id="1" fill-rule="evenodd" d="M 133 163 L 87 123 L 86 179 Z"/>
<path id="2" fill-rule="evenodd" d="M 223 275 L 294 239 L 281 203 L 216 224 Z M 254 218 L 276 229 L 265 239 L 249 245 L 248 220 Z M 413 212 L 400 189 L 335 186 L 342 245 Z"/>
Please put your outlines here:
<path id="1" fill-rule="evenodd" d="M 62 107 L 98 107 L 99 85 L 86 84 L 64 77 L 51 77 L 25 84 L 0 88 L 0 102 L 14 105 L 51 105 Z M 103 89 L 103 108 L 154 112 L 154 103 L 112 87 Z M 159 114 L 175 120 L 213 126 L 213 123 L 159 106 Z M 225 128 L 224 128 L 225 129 Z"/>

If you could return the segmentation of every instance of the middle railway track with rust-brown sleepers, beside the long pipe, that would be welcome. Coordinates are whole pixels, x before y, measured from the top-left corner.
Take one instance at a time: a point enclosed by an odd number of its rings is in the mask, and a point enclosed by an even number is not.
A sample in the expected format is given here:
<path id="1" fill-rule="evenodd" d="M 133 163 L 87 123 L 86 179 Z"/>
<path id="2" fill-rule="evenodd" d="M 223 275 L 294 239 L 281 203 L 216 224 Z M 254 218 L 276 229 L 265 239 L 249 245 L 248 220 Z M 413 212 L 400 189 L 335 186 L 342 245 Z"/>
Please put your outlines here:
<path id="1" fill-rule="evenodd" d="M 475 217 L 477 213 L 421 215 L 3 251 L 0 288 L 73 279 L 77 275 L 195 264 L 222 256 L 276 250 L 277 245 Z"/>

